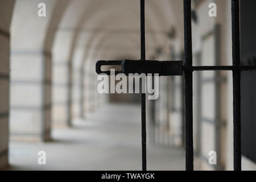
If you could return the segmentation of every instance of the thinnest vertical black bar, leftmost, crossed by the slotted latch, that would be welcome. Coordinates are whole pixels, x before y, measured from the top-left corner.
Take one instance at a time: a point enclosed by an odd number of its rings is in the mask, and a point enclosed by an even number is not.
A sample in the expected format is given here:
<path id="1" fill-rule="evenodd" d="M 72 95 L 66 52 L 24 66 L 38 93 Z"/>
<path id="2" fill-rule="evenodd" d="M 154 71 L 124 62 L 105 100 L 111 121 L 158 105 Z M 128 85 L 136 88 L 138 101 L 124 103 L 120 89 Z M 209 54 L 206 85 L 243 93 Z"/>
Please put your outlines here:
<path id="1" fill-rule="evenodd" d="M 141 61 L 146 60 L 145 50 L 145 1 L 141 0 Z M 144 85 L 141 79 L 141 88 Z M 143 89 L 141 89 L 143 90 Z M 141 93 L 141 135 L 142 135 L 142 171 L 147 170 L 146 156 L 146 94 Z"/>

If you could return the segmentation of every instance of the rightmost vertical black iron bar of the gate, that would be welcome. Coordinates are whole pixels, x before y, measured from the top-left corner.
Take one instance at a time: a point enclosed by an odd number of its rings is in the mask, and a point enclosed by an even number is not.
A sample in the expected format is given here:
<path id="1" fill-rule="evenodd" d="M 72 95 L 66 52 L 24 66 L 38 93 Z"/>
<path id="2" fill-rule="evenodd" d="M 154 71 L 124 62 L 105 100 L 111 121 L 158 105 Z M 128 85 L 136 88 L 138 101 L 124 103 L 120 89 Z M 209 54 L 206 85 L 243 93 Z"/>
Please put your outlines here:
<path id="1" fill-rule="evenodd" d="M 233 65 L 240 66 L 239 0 L 232 0 L 232 57 Z M 233 138 L 234 171 L 241 171 L 241 72 L 233 71 Z"/>

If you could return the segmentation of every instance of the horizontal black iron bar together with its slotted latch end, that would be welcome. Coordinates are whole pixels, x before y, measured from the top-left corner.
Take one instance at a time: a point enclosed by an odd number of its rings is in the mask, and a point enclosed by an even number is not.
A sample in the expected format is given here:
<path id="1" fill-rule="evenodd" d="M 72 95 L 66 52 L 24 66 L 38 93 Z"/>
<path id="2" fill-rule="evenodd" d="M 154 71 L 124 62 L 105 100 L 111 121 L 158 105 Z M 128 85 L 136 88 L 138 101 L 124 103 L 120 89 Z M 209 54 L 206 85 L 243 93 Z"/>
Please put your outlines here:
<path id="1" fill-rule="evenodd" d="M 118 73 L 124 73 L 125 75 L 141 73 L 144 74 L 156 74 L 159 76 L 181 76 L 183 71 L 253 71 L 256 70 L 256 66 L 190 66 L 183 65 L 183 61 L 156 61 L 156 60 L 123 60 L 123 61 L 97 61 L 96 72 L 98 74 L 105 73 L 110 75 L 110 71 L 101 71 L 102 65 L 119 65 L 122 67 L 121 71 L 115 71 L 115 75 Z"/>

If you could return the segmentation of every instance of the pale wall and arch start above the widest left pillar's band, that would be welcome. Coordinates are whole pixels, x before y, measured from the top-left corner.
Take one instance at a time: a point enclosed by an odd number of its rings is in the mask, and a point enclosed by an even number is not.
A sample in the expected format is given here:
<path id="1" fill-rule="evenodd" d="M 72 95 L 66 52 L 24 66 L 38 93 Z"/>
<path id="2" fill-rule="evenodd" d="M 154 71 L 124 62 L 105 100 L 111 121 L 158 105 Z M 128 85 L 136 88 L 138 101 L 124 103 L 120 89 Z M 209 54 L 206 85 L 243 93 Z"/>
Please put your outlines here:
<path id="1" fill-rule="evenodd" d="M 68 0 L 16 0 L 11 20 L 13 51 L 48 51 L 52 49 L 55 30 Z M 39 3 L 46 4 L 46 17 L 38 16 Z"/>

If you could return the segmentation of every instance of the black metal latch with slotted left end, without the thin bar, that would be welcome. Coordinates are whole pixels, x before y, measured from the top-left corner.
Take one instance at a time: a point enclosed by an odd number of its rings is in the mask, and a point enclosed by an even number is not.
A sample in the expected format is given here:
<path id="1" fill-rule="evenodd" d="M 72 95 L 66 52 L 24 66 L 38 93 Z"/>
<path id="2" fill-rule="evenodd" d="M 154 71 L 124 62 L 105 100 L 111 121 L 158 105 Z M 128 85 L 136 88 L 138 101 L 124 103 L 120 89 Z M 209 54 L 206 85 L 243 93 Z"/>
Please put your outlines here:
<path id="1" fill-rule="evenodd" d="M 96 73 L 105 73 L 110 75 L 110 71 L 101 71 L 102 65 L 120 65 L 121 71 L 115 71 L 115 75 L 118 73 L 124 73 L 126 76 L 131 74 L 141 73 L 144 74 L 156 74 L 159 76 L 181 76 L 183 75 L 183 61 L 155 61 L 155 60 L 123 60 L 123 61 L 97 61 Z"/>

